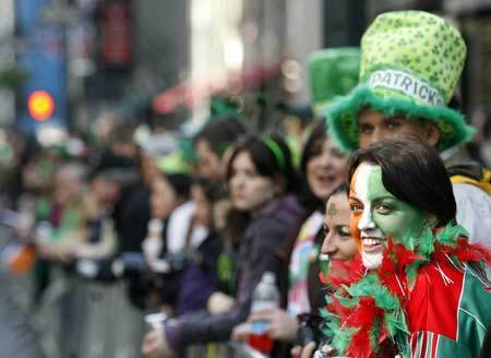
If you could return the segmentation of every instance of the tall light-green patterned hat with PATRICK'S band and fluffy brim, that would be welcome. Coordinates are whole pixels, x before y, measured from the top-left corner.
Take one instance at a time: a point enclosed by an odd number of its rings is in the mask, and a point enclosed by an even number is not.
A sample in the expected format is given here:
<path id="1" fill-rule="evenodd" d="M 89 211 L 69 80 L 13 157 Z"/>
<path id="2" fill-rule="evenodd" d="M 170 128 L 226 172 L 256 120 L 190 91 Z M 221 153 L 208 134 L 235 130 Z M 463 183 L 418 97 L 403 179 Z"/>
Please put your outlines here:
<path id="1" fill-rule="evenodd" d="M 446 106 L 465 57 L 460 34 L 439 16 L 422 11 L 379 15 L 361 38 L 359 85 L 325 109 L 330 135 L 340 148 L 357 150 L 357 114 L 371 107 L 387 117 L 435 123 L 439 151 L 470 140 L 474 129 Z"/>

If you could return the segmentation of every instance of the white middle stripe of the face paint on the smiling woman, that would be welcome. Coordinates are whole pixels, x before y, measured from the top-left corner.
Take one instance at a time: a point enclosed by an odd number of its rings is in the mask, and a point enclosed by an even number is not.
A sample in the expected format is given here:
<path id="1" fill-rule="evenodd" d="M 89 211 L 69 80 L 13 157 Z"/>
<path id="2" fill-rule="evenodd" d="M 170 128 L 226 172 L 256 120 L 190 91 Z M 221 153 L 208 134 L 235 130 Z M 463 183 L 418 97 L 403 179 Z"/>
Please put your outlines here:
<path id="1" fill-rule="evenodd" d="M 350 190 L 352 219 L 358 222 L 357 228 L 361 240 L 361 258 L 363 265 L 369 270 L 381 265 L 385 247 L 385 235 L 373 220 L 373 207 L 369 196 L 370 190 L 375 189 L 369 188 L 369 179 L 380 170 L 380 166 L 362 163 L 355 172 L 355 186 L 351 182 Z"/>

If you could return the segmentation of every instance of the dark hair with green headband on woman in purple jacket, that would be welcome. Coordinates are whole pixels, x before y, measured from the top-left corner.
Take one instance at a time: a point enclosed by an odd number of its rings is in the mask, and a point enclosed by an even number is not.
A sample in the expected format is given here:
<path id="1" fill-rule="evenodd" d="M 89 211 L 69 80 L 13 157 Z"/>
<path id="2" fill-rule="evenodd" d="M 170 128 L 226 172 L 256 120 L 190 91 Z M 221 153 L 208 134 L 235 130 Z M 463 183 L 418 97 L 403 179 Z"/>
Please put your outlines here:
<path id="1" fill-rule="evenodd" d="M 272 143 L 273 142 L 273 143 Z M 260 138 L 250 135 L 238 143 L 227 165 L 227 181 L 232 176 L 232 163 L 237 155 L 247 152 L 261 176 L 272 179 L 284 178 L 285 192 L 295 192 L 298 189 L 297 172 L 291 163 L 291 153 L 288 145 L 279 135 Z"/>

